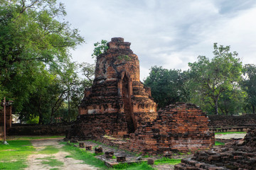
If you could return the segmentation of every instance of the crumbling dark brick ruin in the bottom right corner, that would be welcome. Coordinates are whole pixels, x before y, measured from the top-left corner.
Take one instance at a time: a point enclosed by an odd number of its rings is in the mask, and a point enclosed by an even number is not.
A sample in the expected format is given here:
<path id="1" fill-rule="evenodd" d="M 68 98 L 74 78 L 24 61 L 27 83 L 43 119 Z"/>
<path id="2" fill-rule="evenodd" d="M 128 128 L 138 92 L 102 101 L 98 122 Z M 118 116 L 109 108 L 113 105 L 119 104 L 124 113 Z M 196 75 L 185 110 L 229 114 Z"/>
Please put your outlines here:
<path id="1" fill-rule="evenodd" d="M 243 140 L 233 145 L 197 152 L 192 159 L 183 159 L 175 169 L 255 169 L 256 129 L 249 130 Z"/>

